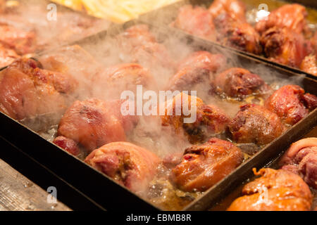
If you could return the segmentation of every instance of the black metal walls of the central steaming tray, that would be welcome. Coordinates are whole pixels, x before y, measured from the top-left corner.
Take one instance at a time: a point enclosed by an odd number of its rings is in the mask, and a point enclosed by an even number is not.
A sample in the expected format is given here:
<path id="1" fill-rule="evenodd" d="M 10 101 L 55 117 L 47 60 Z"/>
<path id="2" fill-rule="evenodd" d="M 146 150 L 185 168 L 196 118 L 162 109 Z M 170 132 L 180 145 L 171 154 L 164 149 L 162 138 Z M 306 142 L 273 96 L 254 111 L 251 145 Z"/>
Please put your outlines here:
<path id="1" fill-rule="evenodd" d="M 114 36 L 124 29 L 143 23 L 139 20 L 132 20 L 123 25 L 113 25 L 107 31 L 106 35 L 102 35 L 101 39 L 89 37 L 82 41 L 77 41 L 77 44 L 85 46 L 92 39 L 94 41 L 105 41 L 107 36 Z M 305 77 L 296 72 L 285 70 L 272 63 L 263 62 L 250 56 L 246 56 L 237 51 L 226 49 L 223 46 L 213 44 L 209 41 L 192 37 L 170 27 L 157 27 L 149 25 L 151 30 L 156 30 L 159 34 L 159 39 L 164 39 L 166 35 L 177 36 L 180 39 L 187 41 L 195 50 L 206 50 L 211 53 L 224 53 L 235 58 L 235 62 L 239 63 L 242 68 L 252 68 L 256 65 L 267 68 L 271 72 L 275 72 L 283 79 L 300 79 L 302 87 L 305 91 L 317 95 L 317 81 L 309 77 Z M 265 78 L 265 77 L 263 77 Z M 50 172 L 56 174 L 65 183 L 75 188 L 81 195 L 85 195 L 94 205 L 97 205 L 101 210 L 163 210 L 149 203 L 148 200 L 139 198 L 139 196 L 130 192 L 127 188 L 116 184 L 113 179 L 97 171 L 96 169 L 85 164 L 81 160 L 70 155 L 53 143 L 46 141 L 25 125 L 12 120 L 10 117 L 0 113 L 0 136 L 11 143 L 23 153 L 28 155 L 32 160 L 39 162 L 43 167 L 49 169 Z M 301 136 L 309 132 L 317 125 L 317 109 L 313 110 L 307 117 L 298 122 L 289 129 L 285 134 L 282 134 L 278 139 L 268 144 L 265 148 L 259 150 L 249 160 L 244 162 L 235 171 L 229 174 L 225 179 L 218 182 L 215 186 L 194 200 L 192 203 L 184 207 L 182 210 L 208 210 L 211 205 L 217 203 L 220 198 L 230 193 L 233 188 L 241 184 L 251 174 L 251 168 L 263 167 L 270 162 L 276 155 L 287 148 L 290 143 L 297 141 Z M 23 172 L 23 171 L 22 171 Z M 36 171 L 35 171 L 36 173 Z M 36 181 L 35 181 L 36 182 Z M 67 205 L 67 204 L 66 204 Z"/>

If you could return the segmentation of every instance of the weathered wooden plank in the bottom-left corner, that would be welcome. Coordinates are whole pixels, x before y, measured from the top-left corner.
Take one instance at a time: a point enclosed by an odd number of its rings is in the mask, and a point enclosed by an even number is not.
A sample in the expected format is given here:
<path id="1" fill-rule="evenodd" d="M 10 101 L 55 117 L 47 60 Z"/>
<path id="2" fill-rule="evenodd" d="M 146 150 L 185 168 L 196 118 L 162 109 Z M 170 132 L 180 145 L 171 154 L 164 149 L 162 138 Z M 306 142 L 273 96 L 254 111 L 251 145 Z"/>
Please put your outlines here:
<path id="1" fill-rule="evenodd" d="M 48 194 L 0 159 L 1 211 L 70 211 L 58 201 L 47 203 Z"/>

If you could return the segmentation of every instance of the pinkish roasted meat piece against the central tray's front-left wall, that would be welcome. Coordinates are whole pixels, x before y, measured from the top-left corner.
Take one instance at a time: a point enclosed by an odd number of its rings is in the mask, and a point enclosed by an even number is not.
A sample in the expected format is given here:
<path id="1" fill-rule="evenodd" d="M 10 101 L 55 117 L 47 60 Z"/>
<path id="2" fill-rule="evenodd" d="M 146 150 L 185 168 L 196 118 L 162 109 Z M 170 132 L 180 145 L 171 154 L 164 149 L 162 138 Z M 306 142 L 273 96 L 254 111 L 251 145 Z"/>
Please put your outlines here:
<path id="1" fill-rule="evenodd" d="M 113 142 L 94 150 L 85 162 L 131 191 L 139 192 L 146 191 L 160 160 L 151 151 L 132 143 Z"/>

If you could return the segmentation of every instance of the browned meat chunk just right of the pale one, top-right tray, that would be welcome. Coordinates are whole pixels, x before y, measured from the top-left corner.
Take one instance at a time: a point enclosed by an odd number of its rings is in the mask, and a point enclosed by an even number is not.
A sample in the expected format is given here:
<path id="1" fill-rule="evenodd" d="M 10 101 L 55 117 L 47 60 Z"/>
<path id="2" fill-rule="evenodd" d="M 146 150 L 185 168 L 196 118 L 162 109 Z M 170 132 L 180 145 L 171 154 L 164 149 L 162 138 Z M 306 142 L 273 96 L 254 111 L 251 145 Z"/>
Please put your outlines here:
<path id="1" fill-rule="evenodd" d="M 217 41 L 225 46 L 260 54 L 262 52 L 260 35 L 247 22 L 234 20 L 228 13 L 220 14 L 214 18 Z"/>

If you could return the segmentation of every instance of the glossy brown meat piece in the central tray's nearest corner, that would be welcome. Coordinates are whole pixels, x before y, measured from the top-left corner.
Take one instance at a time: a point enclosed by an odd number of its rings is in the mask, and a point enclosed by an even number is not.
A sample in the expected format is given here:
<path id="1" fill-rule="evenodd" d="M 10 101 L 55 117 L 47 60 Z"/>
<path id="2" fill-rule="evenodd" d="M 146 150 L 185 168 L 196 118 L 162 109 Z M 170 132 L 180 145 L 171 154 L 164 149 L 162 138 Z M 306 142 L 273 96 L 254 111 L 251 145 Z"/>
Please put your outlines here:
<path id="1" fill-rule="evenodd" d="M 206 191 L 238 167 L 243 158 L 242 150 L 229 141 L 209 139 L 186 148 L 170 180 L 183 191 Z"/>

